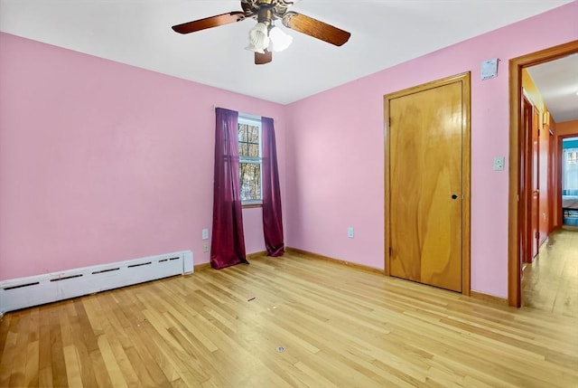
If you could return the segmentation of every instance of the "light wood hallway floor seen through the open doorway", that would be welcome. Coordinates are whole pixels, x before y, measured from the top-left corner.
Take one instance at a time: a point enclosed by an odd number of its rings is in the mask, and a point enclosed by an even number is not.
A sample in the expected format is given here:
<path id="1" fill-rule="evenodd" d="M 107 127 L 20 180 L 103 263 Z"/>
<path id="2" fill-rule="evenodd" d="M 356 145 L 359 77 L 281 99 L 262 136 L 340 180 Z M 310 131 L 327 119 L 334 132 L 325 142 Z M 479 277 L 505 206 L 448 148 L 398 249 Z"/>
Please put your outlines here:
<path id="1" fill-rule="evenodd" d="M 526 266 L 522 304 L 578 317 L 578 228 L 552 232 L 536 260 Z"/>

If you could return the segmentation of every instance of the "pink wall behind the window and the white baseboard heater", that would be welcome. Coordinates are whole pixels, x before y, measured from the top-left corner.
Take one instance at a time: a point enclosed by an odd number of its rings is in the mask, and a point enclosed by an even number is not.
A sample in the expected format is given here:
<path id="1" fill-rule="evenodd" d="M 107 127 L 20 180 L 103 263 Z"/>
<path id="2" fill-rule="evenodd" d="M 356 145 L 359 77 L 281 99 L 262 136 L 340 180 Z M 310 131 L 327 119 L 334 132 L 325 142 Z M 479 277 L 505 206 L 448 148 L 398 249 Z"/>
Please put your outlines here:
<path id="1" fill-rule="evenodd" d="M 0 33 L 0 279 L 191 250 L 211 226 L 213 106 L 284 107 Z M 247 252 L 264 251 L 259 210 Z"/>

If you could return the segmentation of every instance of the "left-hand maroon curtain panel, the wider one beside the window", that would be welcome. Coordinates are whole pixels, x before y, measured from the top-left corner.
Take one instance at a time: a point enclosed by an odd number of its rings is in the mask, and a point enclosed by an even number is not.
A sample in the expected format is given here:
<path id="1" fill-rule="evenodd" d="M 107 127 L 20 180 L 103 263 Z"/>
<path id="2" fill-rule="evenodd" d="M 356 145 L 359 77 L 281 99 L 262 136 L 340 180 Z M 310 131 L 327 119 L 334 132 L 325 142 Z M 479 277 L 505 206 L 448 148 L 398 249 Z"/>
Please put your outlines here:
<path id="1" fill-rule="evenodd" d="M 238 112 L 217 108 L 215 181 L 210 266 L 214 269 L 245 262 L 245 236 L 238 177 Z"/>

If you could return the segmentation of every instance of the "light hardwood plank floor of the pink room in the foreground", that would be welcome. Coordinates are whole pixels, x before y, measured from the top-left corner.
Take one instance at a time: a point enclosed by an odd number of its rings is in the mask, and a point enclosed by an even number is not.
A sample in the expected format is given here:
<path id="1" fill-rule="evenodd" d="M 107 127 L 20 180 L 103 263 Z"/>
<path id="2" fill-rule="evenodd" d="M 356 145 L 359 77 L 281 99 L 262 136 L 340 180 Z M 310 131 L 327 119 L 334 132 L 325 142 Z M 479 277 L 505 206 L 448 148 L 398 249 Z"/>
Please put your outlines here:
<path id="1" fill-rule="evenodd" d="M 286 254 L 8 313 L 0 386 L 567 388 L 577 328 Z"/>

